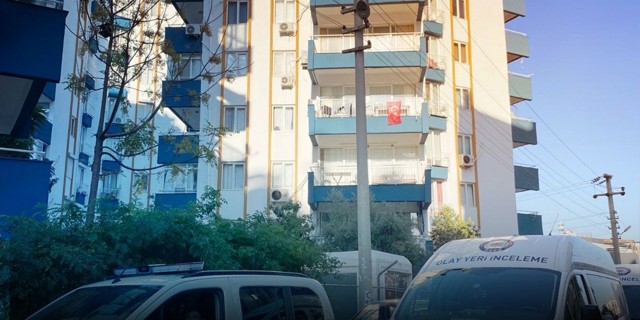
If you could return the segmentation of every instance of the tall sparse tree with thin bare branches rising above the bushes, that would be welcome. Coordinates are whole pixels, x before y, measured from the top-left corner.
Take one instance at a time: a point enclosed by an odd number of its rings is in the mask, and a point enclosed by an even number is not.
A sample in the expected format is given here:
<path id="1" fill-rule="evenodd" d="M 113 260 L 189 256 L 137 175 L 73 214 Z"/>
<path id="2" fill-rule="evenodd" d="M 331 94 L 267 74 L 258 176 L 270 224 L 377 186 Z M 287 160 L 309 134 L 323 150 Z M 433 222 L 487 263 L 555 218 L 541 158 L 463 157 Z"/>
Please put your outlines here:
<path id="1" fill-rule="evenodd" d="M 214 13 L 216 10 L 220 11 L 224 8 L 205 10 L 205 12 L 209 12 L 209 15 L 205 15 L 203 24 L 200 26 L 202 34 L 198 35 L 198 42 L 202 42 L 203 35 L 212 36 L 209 26 L 223 14 L 223 12 L 220 12 L 219 15 Z M 89 75 L 84 70 L 76 70 L 74 74 L 67 76 L 68 90 L 72 92 L 72 95 L 81 97 L 83 102 L 86 102 L 93 92 L 96 92 L 100 97 L 100 115 L 96 124 L 97 133 L 95 134 L 86 214 L 88 224 L 95 220 L 95 200 L 102 174 L 102 156 L 108 157 L 108 159 L 120 164 L 122 168 L 132 172 L 172 166 L 175 177 L 175 173 L 181 170 L 177 161 L 150 167 L 133 167 L 125 164 L 122 159 L 140 156 L 147 152 L 152 157 L 155 148 L 159 147 L 161 143 L 172 143 L 171 140 L 159 142 L 156 136 L 184 136 L 188 134 L 188 132 L 175 128 L 170 128 L 166 132 L 157 132 L 157 128 L 152 125 L 152 119 L 164 109 L 168 99 L 184 99 L 193 106 L 207 105 L 210 99 L 209 90 L 202 90 L 202 93 L 188 90 L 186 95 L 177 95 L 175 89 L 196 79 L 206 80 L 209 88 L 221 79 L 229 81 L 233 79 L 233 72 L 227 72 L 232 70 L 220 67 L 223 61 L 221 55 L 224 53 L 224 48 L 221 45 L 218 45 L 217 49 L 211 49 L 210 56 L 196 60 L 196 56 L 199 57 L 200 52 L 196 52 L 195 47 L 189 54 L 179 54 L 173 48 L 171 39 L 164 39 L 164 26 L 168 25 L 170 20 L 179 19 L 180 14 L 181 12 L 173 10 L 171 1 L 79 1 L 79 15 L 84 18 L 79 19 L 79 33 L 76 34 L 81 44 L 79 56 L 84 59 L 84 56 L 88 54 L 91 59 L 99 61 L 100 65 L 104 67 L 104 70 L 100 70 L 100 75 Z M 152 87 L 157 89 L 145 92 L 154 102 L 154 108 L 147 115 L 130 115 L 131 103 L 124 95 L 125 90 L 135 89 L 134 81 L 137 81 L 146 69 L 157 69 L 163 66 L 165 56 L 166 61 L 170 62 L 165 78 L 168 81 L 162 82 L 160 77 L 154 77 Z M 196 63 L 196 61 L 200 61 L 200 63 Z M 192 65 L 195 65 L 193 67 L 195 70 L 192 70 Z M 188 78 L 181 77 L 186 68 L 191 71 L 190 76 Z M 199 72 L 197 69 L 200 69 Z M 97 85 L 95 88 L 95 83 L 101 85 Z M 113 105 L 108 103 L 109 90 L 115 90 L 118 94 Z M 118 115 L 124 115 L 127 118 L 120 132 L 112 130 L 118 125 L 115 122 Z M 207 122 L 200 124 L 199 134 L 199 145 L 191 144 L 188 139 L 180 140 L 180 145 L 175 148 L 176 156 L 191 154 L 194 159 L 202 158 L 207 163 L 214 163 L 217 157 L 216 144 L 225 135 L 225 129 Z M 107 139 L 117 140 L 116 147 L 105 145 Z M 178 140 L 173 142 L 175 141 Z"/>

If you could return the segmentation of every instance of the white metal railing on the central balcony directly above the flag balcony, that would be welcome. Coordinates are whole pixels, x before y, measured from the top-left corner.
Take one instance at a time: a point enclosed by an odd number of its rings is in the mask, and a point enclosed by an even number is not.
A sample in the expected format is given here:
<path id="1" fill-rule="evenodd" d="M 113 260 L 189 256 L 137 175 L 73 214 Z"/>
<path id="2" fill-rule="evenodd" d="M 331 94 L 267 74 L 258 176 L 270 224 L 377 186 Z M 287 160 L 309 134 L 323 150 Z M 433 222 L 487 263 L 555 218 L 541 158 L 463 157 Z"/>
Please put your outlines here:
<path id="1" fill-rule="evenodd" d="M 420 33 L 370 33 L 364 41 L 371 41 L 367 51 L 419 51 Z M 353 35 L 314 35 L 316 53 L 342 52 L 355 46 Z"/>

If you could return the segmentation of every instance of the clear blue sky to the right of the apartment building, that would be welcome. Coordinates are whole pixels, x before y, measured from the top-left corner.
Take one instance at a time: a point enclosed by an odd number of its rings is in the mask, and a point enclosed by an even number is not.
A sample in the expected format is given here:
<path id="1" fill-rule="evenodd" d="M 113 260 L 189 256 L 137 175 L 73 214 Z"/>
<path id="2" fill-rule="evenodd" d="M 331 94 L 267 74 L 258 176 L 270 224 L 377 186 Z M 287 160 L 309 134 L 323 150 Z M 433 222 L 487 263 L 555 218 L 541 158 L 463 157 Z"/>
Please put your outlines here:
<path id="1" fill-rule="evenodd" d="M 607 211 L 607 198 L 591 197 L 605 189 L 577 184 L 609 173 L 614 187 L 627 188 L 614 197 L 621 230 L 632 226 L 623 237 L 639 240 L 640 1 L 527 0 L 526 8 L 526 17 L 506 28 L 527 33 L 531 58 L 509 70 L 534 74 L 531 109 L 516 107 L 537 122 L 538 145 L 516 148 L 514 157 L 540 168 L 540 191 L 518 193 L 518 210 L 540 212 L 545 233 L 558 233 L 558 216 L 573 232 L 611 237 L 607 217 L 598 214 Z"/>

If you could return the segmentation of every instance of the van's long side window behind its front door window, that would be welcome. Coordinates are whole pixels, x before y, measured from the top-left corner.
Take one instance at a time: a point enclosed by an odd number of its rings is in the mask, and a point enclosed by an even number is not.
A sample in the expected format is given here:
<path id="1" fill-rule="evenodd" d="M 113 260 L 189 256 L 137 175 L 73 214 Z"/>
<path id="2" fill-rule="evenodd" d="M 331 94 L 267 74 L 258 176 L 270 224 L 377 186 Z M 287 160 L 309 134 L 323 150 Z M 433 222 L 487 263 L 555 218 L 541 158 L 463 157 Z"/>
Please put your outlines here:
<path id="1" fill-rule="evenodd" d="M 615 320 L 627 314 L 627 305 L 623 301 L 622 288 L 618 280 L 596 275 L 587 275 L 587 280 L 596 300 L 595 304 L 605 319 Z"/>

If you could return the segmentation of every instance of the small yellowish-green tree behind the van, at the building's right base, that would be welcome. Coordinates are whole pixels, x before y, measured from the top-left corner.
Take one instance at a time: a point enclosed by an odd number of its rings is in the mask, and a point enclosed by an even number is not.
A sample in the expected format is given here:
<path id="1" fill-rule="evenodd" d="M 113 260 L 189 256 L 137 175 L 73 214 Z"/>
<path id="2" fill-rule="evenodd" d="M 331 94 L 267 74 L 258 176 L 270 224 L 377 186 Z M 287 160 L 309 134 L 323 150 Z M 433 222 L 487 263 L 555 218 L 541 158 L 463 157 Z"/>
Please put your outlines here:
<path id="1" fill-rule="evenodd" d="M 449 206 L 442 207 L 431 225 L 433 250 L 452 240 L 478 237 L 478 231 L 471 218 L 463 221 Z"/>

